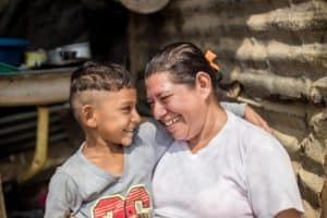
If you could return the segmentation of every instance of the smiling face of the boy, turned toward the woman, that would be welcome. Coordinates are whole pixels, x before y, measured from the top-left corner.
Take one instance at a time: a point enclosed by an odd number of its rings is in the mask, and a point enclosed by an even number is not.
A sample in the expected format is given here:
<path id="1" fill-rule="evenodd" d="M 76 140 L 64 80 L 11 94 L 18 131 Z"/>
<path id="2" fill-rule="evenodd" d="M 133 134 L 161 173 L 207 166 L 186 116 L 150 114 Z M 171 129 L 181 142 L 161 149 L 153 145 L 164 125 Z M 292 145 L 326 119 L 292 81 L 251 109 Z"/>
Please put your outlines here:
<path id="1" fill-rule="evenodd" d="M 109 145 L 130 145 L 141 121 L 136 111 L 136 89 L 98 93 L 95 118 L 99 137 Z"/>

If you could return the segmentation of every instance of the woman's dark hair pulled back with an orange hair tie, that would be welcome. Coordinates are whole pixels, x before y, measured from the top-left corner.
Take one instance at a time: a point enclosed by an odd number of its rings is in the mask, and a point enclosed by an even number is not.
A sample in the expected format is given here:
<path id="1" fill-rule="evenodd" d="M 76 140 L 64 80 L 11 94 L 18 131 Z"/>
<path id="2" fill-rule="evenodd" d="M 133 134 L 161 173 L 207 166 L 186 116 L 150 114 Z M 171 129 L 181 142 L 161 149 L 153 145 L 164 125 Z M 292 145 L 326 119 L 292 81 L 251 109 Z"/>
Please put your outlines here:
<path id="1" fill-rule="evenodd" d="M 202 50 L 191 43 L 174 43 L 159 50 L 146 64 L 145 78 L 155 73 L 167 72 L 174 83 L 193 87 L 198 71 L 209 74 L 216 90 L 217 71 L 210 66 Z"/>

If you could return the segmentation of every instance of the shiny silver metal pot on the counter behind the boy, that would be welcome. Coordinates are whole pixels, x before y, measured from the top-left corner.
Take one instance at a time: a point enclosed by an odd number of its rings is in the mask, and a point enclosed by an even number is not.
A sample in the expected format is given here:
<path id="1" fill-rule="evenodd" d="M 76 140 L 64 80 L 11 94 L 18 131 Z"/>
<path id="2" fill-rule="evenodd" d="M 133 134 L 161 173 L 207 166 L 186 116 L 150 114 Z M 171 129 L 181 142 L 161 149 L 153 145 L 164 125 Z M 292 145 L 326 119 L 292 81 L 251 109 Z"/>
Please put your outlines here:
<path id="1" fill-rule="evenodd" d="M 71 44 L 47 51 L 47 63 L 64 65 L 90 59 L 88 43 Z"/>

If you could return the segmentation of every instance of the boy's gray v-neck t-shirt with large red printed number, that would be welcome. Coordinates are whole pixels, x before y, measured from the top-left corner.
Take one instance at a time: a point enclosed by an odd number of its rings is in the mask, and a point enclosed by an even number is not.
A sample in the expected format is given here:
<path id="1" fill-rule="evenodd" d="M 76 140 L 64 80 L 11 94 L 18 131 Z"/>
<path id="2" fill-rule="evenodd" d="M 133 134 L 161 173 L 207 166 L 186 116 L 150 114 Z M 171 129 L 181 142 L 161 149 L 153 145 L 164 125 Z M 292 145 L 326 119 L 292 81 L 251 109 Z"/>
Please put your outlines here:
<path id="1" fill-rule="evenodd" d="M 157 122 L 142 124 L 132 145 L 124 148 L 124 171 L 112 175 L 89 162 L 82 147 L 51 178 L 46 218 L 152 217 L 150 177 L 155 164 L 172 138 Z M 156 145 L 156 146 L 154 146 Z"/>

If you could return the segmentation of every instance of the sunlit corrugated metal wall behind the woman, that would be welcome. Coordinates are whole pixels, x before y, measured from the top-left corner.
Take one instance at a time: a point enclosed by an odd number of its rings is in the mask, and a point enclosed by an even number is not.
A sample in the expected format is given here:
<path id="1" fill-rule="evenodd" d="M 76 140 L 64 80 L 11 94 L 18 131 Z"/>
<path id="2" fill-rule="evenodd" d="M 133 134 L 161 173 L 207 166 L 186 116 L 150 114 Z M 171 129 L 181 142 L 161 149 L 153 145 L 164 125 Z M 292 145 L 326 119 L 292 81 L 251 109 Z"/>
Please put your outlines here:
<path id="1" fill-rule="evenodd" d="M 130 19 L 131 70 L 168 43 L 218 53 L 231 99 L 255 107 L 288 149 L 305 217 L 327 217 L 327 2 L 175 0 Z"/>

